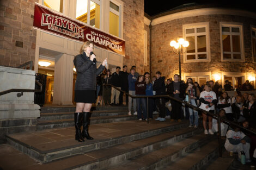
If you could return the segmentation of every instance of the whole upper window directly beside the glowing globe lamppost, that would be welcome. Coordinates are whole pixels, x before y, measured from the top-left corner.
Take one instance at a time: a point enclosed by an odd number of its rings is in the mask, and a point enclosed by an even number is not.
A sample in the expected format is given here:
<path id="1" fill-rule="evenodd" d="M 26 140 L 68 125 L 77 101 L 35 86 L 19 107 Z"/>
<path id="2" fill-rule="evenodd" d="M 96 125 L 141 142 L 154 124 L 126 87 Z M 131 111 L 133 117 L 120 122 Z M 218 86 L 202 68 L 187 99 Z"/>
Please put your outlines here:
<path id="1" fill-rule="evenodd" d="M 190 43 L 187 47 L 185 62 L 210 60 L 208 23 L 184 25 L 185 39 Z"/>

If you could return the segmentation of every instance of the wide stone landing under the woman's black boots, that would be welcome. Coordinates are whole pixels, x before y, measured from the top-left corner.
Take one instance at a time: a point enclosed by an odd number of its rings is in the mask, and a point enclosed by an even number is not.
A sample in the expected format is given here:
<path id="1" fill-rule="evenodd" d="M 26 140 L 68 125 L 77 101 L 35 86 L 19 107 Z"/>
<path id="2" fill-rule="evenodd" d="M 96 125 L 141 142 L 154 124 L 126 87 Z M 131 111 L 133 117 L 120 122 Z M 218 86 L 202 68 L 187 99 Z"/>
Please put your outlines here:
<path id="1" fill-rule="evenodd" d="M 95 150 L 135 140 L 142 140 L 147 137 L 184 128 L 187 125 L 187 121 L 179 123 L 151 121 L 149 124 L 145 121 L 113 122 L 90 125 L 90 129 L 92 130 L 89 130 L 89 132 L 94 137 L 94 140 L 86 140 L 84 143 L 74 140 L 74 127 L 35 131 L 34 133 L 12 134 L 7 136 L 7 142 L 36 160 L 48 162 L 90 151 L 97 152 Z M 192 135 L 195 131 L 202 131 L 199 128 L 184 128 L 182 130 L 180 133 L 175 131 L 173 134 L 169 134 L 169 136 L 178 139 L 179 137 L 184 138 Z M 169 136 L 167 135 L 166 137 Z M 148 140 L 145 140 L 144 143 L 148 143 Z"/>

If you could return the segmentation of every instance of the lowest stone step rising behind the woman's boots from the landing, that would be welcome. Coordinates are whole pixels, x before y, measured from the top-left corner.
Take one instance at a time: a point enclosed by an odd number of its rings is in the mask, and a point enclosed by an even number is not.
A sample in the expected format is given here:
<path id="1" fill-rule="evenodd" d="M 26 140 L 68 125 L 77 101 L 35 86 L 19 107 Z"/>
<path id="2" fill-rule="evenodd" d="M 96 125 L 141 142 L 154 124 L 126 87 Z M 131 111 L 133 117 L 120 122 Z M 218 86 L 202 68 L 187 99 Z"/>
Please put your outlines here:
<path id="1" fill-rule="evenodd" d="M 90 124 L 98 123 L 111 123 L 111 122 L 123 122 L 136 120 L 136 115 L 117 115 L 117 116 L 100 116 L 100 117 L 91 117 Z M 70 119 L 53 119 L 53 120 L 38 120 L 36 125 L 36 130 L 45 130 L 52 128 L 64 128 L 64 127 L 74 127 L 74 118 Z"/>

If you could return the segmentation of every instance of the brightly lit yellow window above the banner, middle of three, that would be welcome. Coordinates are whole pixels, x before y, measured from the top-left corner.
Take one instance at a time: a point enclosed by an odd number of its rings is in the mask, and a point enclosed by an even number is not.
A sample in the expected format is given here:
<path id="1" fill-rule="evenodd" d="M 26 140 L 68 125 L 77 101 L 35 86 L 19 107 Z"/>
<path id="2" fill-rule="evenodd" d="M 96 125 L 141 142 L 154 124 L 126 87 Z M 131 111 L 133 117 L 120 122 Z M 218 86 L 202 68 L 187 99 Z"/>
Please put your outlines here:
<path id="1" fill-rule="evenodd" d="M 88 11 L 89 14 L 88 14 Z M 99 0 L 77 0 L 76 19 L 90 26 L 100 28 L 100 1 Z"/>

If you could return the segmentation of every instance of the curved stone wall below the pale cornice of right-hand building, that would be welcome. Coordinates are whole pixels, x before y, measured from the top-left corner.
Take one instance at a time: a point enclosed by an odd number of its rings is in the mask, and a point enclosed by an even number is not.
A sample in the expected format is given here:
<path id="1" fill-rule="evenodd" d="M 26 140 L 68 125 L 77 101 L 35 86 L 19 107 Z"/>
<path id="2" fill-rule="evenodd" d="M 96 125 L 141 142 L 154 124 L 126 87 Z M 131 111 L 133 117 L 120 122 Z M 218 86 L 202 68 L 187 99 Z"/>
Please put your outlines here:
<path id="1" fill-rule="evenodd" d="M 252 18 L 233 15 L 205 15 L 181 18 L 168 21 L 152 27 L 152 71 L 161 71 L 166 77 L 179 74 L 179 55 L 172 52 L 169 46 L 171 40 L 183 37 L 182 25 L 198 22 L 209 22 L 210 32 L 210 62 L 183 63 L 181 72 L 254 72 L 256 65 L 252 62 L 251 24 L 256 21 Z M 220 22 L 239 22 L 243 24 L 245 62 L 221 62 Z"/>

